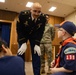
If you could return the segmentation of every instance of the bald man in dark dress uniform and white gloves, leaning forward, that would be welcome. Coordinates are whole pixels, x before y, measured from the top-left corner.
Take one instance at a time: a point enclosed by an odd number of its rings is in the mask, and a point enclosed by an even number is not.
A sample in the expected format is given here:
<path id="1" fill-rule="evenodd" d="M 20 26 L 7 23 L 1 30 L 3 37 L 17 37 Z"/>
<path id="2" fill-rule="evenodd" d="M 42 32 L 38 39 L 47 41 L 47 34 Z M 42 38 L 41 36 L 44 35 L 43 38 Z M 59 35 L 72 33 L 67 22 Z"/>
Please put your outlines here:
<path id="1" fill-rule="evenodd" d="M 34 75 L 40 75 L 40 41 L 46 25 L 46 16 L 41 13 L 41 5 L 34 3 L 30 10 L 21 11 L 17 21 L 18 56 L 25 58 L 27 41 L 30 41 Z"/>

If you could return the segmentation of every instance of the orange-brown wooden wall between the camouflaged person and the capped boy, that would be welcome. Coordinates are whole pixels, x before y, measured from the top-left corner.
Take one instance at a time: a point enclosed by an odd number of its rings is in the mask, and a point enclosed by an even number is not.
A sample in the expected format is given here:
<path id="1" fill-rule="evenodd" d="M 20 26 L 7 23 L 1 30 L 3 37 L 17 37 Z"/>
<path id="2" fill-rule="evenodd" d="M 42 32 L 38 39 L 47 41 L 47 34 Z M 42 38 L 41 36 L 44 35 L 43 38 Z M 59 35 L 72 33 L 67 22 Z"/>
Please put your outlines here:
<path id="1" fill-rule="evenodd" d="M 49 19 L 49 23 L 52 25 L 60 24 L 62 21 L 64 21 L 63 17 L 50 16 L 50 19 Z M 61 41 L 61 39 L 58 39 L 57 31 L 56 31 L 56 27 L 55 27 L 55 39 L 52 42 L 52 45 L 55 48 L 55 50 L 52 50 L 53 59 L 55 58 L 56 54 L 58 53 L 60 41 Z"/>

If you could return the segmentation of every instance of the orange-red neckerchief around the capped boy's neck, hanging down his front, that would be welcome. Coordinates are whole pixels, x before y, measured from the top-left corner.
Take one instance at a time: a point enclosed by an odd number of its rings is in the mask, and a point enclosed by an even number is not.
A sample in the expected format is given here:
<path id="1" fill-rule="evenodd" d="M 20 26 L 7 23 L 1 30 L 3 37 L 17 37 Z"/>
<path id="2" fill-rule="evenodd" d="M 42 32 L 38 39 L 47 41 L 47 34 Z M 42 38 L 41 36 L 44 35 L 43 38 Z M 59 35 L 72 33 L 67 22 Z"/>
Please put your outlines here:
<path id="1" fill-rule="evenodd" d="M 59 47 L 59 51 L 58 51 L 58 57 L 55 59 L 55 67 L 59 67 L 59 62 L 60 62 L 60 53 L 61 53 L 61 48 L 62 48 L 62 46 L 65 46 L 66 44 L 68 44 L 68 43 L 73 43 L 73 44 L 76 44 L 76 38 L 68 38 L 68 39 L 66 39 L 66 40 L 64 40 L 63 42 L 62 42 L 62 44 L 60 45 L 60 47 Z"/>

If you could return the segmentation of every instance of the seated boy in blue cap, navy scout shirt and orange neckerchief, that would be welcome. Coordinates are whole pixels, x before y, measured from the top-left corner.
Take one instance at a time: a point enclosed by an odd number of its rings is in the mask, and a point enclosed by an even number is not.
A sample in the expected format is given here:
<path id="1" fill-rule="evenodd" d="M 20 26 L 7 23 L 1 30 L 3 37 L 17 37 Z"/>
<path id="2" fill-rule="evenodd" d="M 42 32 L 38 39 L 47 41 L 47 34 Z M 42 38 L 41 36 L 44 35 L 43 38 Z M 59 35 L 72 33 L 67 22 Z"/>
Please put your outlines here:
<path id="1" fill-rule="evenodd" d="M 64 21 L 59 25 L 58 38 L 62 39 L 57 58 L 51 63 L 51 75 L 76 75 L 76 26 Z"/>

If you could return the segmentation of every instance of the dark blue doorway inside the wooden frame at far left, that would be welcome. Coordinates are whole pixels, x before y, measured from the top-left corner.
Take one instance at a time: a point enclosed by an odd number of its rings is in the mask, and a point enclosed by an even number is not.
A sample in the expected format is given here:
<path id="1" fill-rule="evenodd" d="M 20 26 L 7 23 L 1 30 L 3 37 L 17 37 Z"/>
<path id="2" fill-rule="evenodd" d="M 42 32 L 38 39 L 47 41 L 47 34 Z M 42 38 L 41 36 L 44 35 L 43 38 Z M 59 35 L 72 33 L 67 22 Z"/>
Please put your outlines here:
<path id="1" fill-rule="evenodd" d="M 0 38 L 10 46 L 11 23 L 0 22 Z"/>

